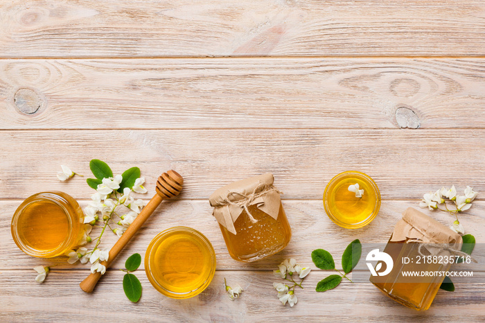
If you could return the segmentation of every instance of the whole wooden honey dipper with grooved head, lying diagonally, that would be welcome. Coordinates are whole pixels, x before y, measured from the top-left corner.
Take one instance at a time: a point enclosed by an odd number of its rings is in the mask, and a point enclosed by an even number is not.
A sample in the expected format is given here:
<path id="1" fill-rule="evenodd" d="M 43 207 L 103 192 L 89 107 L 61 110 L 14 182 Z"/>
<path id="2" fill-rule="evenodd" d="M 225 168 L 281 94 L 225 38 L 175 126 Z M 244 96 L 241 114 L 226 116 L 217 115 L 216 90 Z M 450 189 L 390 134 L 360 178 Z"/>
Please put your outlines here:
<path id="1" fill-rule="evenodd" d="M 101 261 L 101 265 L 105 265 L 106 268 L 108 268 L 116 256 L 123 250 L 125 245 L 127 245 L 128 241 L 130 241 L 134 234 L 140 229 L 141 225 L 143 225 L 143 223 L 152 215 L 153 211 L 157 209 L 161 201 L 179 195 L 180 191 L 182 191 L 182 184 L 184 184 L 184 179 L 176 171 L 168 171 L 167 173 L 161 174 L 161 176 L 158 177 L 157 187 L 155 189 L 157 193 L 153 196 L 150 202 L 143 207 L 139 215 L 136 216 L 121 238 L 116 241 L 111 250 L 109 250 L 108 260 Z M 81 281 L 79 286 L 86 293 L 91 293 L 100 278 L 100 272 L 89 274 L 85 280 Z"/>

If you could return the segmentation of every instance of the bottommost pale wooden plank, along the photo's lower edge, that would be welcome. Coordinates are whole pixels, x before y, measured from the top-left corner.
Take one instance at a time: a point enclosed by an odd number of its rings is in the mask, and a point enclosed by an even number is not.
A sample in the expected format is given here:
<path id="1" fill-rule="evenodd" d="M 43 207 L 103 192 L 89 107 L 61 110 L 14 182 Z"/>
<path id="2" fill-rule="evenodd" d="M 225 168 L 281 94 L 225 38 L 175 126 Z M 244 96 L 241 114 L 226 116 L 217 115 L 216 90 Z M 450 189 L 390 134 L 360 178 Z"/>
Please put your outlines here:
<path id="1" fill-rule="evenodd" d="M 1 315 L 8 322 L 62 320 L 78 322 L 94 315 L 96 320 L 116 322 L 268 322 L 301 320 L 322 322 L 353 320 L 356 322 L 483 322 L 485 303 L 484 273 L 476 283 L 457 286 L 454 293 L 440 290 L 431 308 L 425 312 L 406 308 L 371 285 L 342 281 L 325 293 L 316 293 L 314 286 L 328 272 L 310 272 L 297 290 L 298 303 L 283 306 L 272 286 L 270 272 L 216 272 L 206 290 L 191 299 L 169 299 L 152 288 L 143 271 L 135 272 L 143 286 L 139 303 L 131 304 L 123 294 L 123 272 L 111 271 L 102 279 L 93 295 L 78 287 L 85 272 L 53 270 L 46 281 L 34 281 L 33 270 L 4 270 L 0 273 Z M 244 292 L 231 302 L 224 290 L 224 278 L 238 283 Z M 475 278 L 475 275 L 474 275 Z M 331 304 L 331 306 L 330 306 Z"/>

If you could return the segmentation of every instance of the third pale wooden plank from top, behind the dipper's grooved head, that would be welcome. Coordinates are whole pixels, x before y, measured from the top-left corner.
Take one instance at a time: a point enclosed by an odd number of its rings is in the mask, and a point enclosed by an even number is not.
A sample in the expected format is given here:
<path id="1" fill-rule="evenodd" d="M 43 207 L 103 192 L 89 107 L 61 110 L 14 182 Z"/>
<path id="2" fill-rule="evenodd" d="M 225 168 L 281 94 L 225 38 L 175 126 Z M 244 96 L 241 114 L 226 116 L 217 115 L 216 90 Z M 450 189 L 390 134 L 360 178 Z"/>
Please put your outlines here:
<path id="1" fill-rule="evenodd" d="M 204 199 L 219 187 L 272 172 L 285 200 L 319 200 L 342 171 L 367 173 L 384 199 L 422 198 L 455 184 L 485 191 L 484 130 L 45 130 L 0 132 L 2 198 L 60 190 L 86 199 L 86 177 L 60 182 L 67 164 L 89 177 L 89 160 L 114 173 L 141 167 L 154 193 L 170 168 L 185 178 L 179 198 Z"/>

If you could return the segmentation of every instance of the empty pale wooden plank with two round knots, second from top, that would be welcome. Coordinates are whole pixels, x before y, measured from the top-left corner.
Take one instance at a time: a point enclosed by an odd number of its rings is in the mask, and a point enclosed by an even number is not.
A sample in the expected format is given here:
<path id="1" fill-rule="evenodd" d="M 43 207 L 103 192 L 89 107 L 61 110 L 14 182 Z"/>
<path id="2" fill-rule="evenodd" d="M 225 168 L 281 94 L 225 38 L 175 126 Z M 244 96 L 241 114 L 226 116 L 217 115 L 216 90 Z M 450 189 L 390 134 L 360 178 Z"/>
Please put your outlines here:
<path id="1" fill-rule="evenodd" d="M 485 128 L 484 87 L 482 58 L 0 60 L 0 129 Z"/>

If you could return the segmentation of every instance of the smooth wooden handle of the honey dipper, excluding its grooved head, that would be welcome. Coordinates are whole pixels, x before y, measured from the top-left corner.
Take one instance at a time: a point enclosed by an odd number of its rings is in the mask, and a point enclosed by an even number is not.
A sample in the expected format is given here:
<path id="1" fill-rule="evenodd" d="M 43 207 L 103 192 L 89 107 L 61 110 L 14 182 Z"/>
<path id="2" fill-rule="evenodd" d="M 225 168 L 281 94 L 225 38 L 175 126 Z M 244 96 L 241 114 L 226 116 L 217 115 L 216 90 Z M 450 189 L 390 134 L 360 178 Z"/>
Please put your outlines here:
<path id="1" fill-rule="evenodd" d="M 140 229 L 141 225 L 152 215 L 153 211 L 157 209 L 159 204 L 161 203 L 163 199 L 159 194 L 155 194 L 153 198 L 146 204 L 145 207 L 141 210 L 140 214 L 136 216 L 130 227 L 126 229 L 126 231 L 123 233 L 123 235 L 116 241 L 114 246 L 109 250 L 109 257 L 108 261 L 102 261 L 101 265 L 105 265 L 106 268 L 109 267 L 109 265 L 114 261 L 116 256 L 123 250 L 125 245 L 130 241 L 130 239 L 134 236 L 134 234 Z M 101 278 L 101 273 L 100 272 L 95 272 L 94 274 L 89 274 L 89 276 L 81 281 L 79 284 L 80 288 L 84 290 L 86 293 L 91 293 L 94 290 L 94 287 L 96 286 L 96 283 L 98 283 L 98 280 Z"/>

